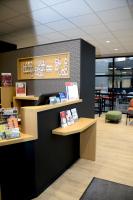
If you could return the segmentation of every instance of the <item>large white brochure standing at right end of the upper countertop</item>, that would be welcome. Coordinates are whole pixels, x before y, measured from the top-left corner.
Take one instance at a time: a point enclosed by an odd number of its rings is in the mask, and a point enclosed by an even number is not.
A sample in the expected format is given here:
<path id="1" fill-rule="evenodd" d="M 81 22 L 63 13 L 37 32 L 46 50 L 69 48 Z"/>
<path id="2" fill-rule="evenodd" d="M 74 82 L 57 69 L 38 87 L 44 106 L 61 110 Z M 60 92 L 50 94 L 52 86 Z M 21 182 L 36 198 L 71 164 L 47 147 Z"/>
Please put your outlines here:
<path id="1" fill-rule="evenodd" d="M 66 82 L 65 86 L 66 86 L 67 99 L 69 100 L 79 99 L 77 82 Z"/>

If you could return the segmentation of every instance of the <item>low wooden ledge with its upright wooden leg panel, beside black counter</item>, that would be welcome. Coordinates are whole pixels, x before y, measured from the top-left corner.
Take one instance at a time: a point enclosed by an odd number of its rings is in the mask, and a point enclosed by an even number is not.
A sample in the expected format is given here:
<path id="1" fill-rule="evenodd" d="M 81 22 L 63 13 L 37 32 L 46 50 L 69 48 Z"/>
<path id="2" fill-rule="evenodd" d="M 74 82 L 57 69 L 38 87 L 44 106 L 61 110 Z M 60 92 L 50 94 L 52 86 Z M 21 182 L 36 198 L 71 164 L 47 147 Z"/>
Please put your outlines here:
<path id="1" fill-rule="evenodd" d="M 73 125 L 57 128 L 52 133 L 68 136 L 80 133 L 80 158 L 95 160 L 96 154 L 96 119 L 79 118 Z"/>

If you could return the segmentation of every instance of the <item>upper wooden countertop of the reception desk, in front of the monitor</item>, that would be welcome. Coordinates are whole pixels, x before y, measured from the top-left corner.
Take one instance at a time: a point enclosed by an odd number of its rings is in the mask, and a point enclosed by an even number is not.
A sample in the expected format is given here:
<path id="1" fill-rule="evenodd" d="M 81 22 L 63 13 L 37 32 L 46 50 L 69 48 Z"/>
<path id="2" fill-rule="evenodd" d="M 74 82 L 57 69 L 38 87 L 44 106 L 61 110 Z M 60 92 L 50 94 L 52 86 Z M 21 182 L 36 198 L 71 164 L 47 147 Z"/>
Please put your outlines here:
<path id="1" fill-rule="evenodd" d="M 67 106 L 67 105 L 72 105 L 72 104 L 76 104 L 76 103 L 80 103 L 80 102 L 82 102 L 82 99 L 68 100 L 65 102 L 60 102 L 60 103 L 56 103 L 56 104 L 47 104 L 47 105 L 43 105 L 43 106 L 25 106 L 25 107 L 22 107 L 21 109 L 33 111 L 33 112 L 34 111 L 41 112 L 41 111 L 51 110 L 51 109 L 55 109 L 55 108 L 59 108 L 59 107 Z"/>

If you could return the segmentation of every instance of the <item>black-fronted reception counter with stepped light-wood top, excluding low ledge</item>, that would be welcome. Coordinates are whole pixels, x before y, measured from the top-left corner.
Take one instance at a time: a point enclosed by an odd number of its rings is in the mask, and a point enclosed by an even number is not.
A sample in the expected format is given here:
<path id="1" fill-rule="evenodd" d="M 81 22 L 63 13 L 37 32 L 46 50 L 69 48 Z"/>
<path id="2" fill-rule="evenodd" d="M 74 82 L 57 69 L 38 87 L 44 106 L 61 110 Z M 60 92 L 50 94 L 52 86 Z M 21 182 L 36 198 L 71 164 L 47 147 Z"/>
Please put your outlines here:
<path id="1" fill-rule="evenodd" d="M 21 108 L 22 138 L 1 141 L 2 200 L 37 197 L 80 158 L 80 133 L 52 134 L 59 113 L 72 108 L 82 117 L 82 100 Z"/>

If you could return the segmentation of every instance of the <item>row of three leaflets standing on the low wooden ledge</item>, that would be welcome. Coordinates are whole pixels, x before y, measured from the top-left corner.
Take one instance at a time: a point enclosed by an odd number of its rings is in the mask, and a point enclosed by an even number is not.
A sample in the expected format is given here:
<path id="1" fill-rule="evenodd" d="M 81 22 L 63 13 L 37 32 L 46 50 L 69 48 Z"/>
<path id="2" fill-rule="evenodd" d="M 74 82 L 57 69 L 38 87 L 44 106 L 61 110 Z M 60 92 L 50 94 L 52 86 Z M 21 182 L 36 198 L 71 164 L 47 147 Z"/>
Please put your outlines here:
<path id="1" fill-rule="evenodd" d="M 74 122 L 78 120 L 77 109 L 73 108 L 71 110 L 60 112 L 60 119 L 62 128 L 74 124 Z"/>

